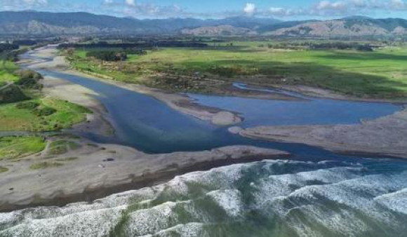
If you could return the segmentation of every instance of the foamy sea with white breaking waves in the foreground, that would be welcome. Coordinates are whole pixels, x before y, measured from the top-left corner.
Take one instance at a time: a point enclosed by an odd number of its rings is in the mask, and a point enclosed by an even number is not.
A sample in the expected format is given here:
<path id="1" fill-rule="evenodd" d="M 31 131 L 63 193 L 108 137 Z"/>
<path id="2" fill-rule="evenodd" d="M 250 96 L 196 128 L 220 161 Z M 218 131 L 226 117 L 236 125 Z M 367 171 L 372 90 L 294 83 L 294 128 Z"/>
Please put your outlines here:
<path id="1" fill-rule="evenodd" d="M 64 208 L 0 214 L 0 236 L 404 236 L 407 163 L 262 161 Z"/>

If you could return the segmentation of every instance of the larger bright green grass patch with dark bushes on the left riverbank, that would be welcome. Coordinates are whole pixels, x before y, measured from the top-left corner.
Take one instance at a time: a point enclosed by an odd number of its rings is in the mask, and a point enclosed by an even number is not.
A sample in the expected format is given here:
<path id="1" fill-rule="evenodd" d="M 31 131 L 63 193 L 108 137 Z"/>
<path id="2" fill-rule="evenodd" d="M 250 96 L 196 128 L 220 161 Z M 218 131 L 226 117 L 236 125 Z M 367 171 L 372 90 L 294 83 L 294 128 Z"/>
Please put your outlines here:
<path id="1" fill-rule="evenodd" d="M 14 104 L 0 106 L 0 130 L 13 131 L 55 131 L 71 128 L 75 123 L 86 121 L 86 114 L 91 113 L 85 107 L 64 100 L 50 97 L 31 100 L 38 102 L 41 108 L 53 108 L 54 114 L 38 116 L 30 109 L 16 109 Z"/>

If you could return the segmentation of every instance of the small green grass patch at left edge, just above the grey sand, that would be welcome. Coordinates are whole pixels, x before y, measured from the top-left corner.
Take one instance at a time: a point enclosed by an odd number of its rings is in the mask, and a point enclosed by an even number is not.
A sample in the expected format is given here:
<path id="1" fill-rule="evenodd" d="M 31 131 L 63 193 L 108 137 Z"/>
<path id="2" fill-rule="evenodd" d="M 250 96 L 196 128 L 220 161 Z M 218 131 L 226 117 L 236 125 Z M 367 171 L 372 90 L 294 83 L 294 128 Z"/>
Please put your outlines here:
<path id="1" fill-rule="evenodd" d="M 43 137 L 0 137 L 0 160 L 29 156 L 44 150 Z"/>

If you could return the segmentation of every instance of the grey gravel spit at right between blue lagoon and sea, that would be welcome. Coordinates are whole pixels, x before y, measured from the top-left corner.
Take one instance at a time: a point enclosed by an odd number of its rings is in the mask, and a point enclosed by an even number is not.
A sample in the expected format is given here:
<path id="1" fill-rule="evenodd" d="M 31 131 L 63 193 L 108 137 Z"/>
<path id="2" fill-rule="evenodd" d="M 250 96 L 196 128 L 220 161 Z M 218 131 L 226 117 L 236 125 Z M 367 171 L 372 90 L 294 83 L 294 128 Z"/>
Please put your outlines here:
<path id="1" fill-rule="evenodd" d="M 341 154 L 407 158 L 407 109 L 356 125 L 259 126 L 231 132 L 253 139 L 309 144 Z"/>

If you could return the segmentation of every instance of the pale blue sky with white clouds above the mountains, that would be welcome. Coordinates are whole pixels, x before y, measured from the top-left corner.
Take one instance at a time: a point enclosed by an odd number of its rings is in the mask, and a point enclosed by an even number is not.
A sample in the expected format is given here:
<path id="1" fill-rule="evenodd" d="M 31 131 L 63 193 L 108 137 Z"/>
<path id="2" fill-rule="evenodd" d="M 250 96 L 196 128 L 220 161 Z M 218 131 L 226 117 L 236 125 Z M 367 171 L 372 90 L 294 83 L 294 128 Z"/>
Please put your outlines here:
<path id="1" fill-rule="evenodd" d="M 132 18 L 407 18 L 407 0 L 0 0 L 0 11 L 86 11 Z"/>

